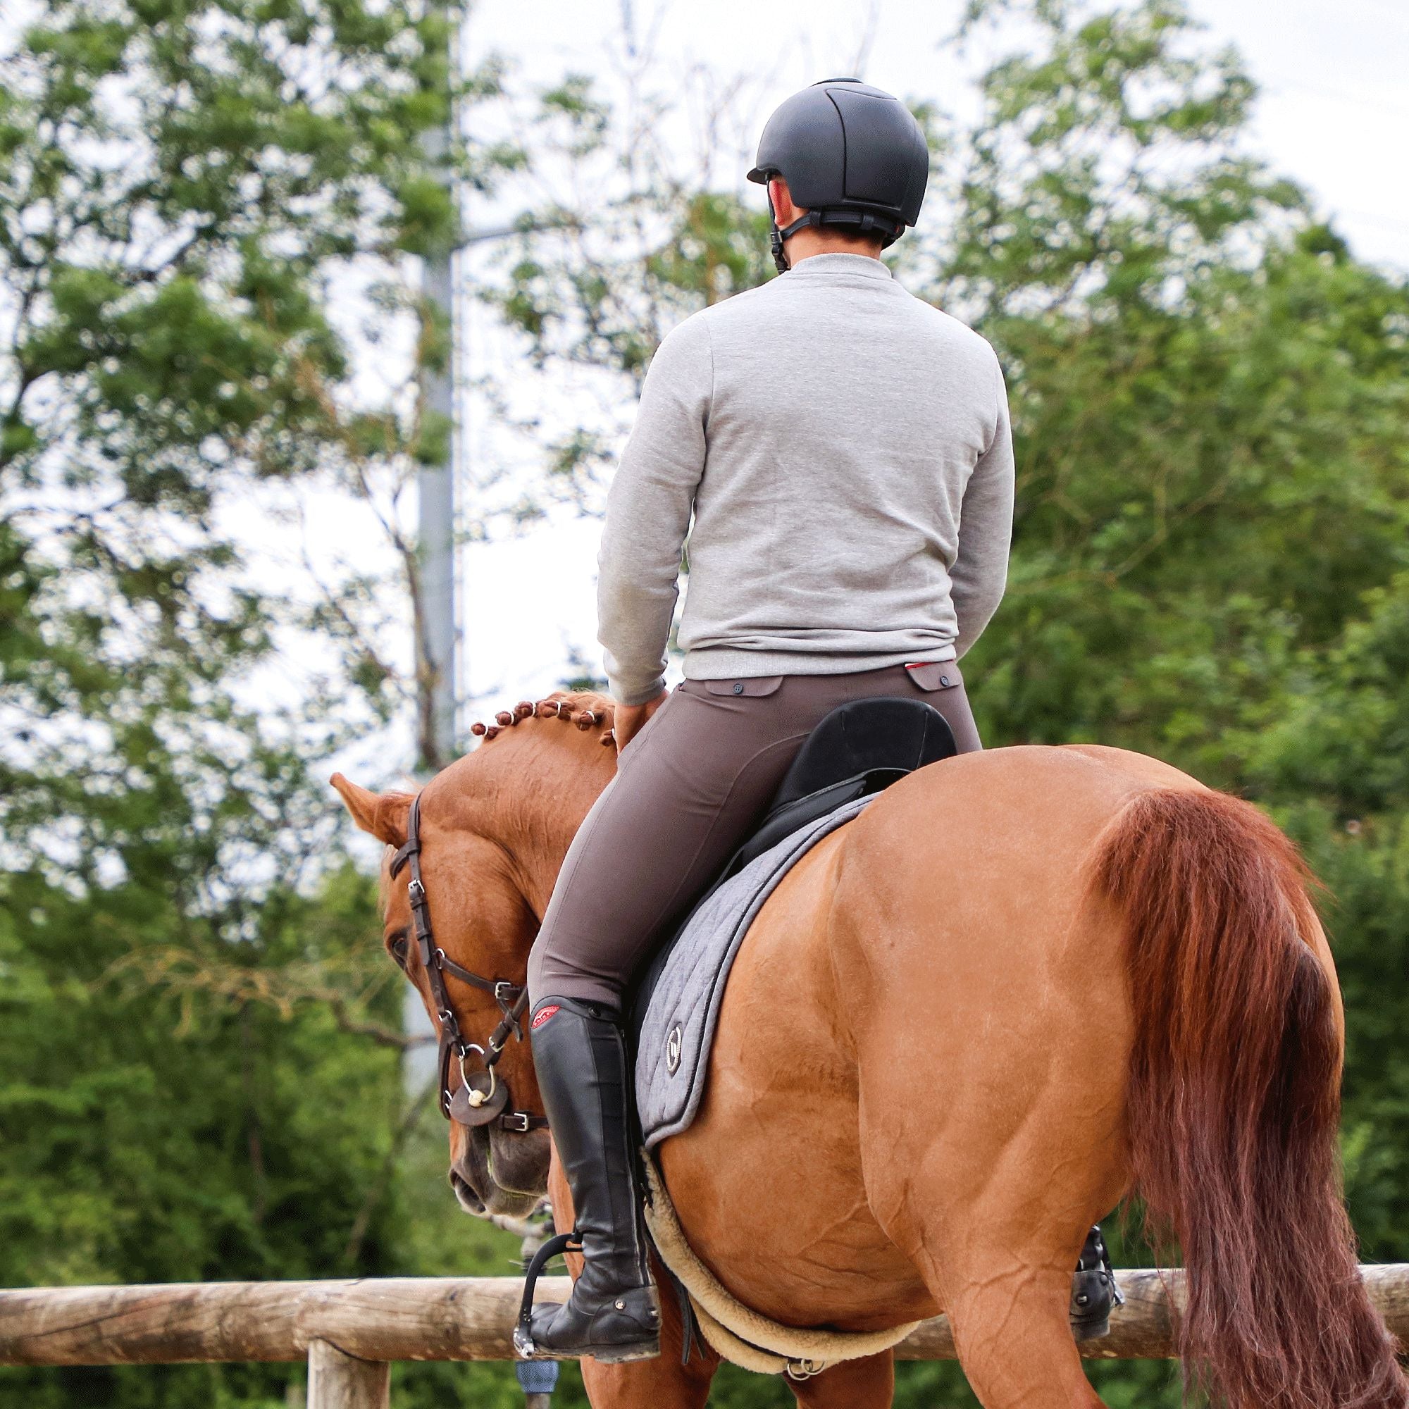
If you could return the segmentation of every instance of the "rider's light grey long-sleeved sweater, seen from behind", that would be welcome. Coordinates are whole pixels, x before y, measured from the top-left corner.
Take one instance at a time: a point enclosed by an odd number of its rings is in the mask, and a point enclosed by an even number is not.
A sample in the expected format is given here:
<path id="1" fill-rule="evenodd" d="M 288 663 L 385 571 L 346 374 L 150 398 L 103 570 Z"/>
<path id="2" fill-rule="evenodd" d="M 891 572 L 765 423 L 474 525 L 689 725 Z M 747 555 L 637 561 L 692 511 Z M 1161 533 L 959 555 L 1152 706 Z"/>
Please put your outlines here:
<path id="1" fill-rule="evenodd" d="M 1012 519 L 988 342 L 879 259 L 803 259 L 651 362 L 597 559 L 612 695 L 661 690 L 682 550 L 690 679 L 951 661 L 1003 595 Z"/>

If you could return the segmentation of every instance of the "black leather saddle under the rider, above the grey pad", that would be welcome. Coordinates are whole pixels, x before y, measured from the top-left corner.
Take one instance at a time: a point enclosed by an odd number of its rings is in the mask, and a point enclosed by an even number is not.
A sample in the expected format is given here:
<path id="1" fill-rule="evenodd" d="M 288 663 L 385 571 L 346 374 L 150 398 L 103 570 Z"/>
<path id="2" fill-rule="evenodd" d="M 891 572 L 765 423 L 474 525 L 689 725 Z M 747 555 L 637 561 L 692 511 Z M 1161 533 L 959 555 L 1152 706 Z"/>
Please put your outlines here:
<path id="1" fill-rule="evenodd" d="M 920 699 L 869 699 L 838 704 L 807 735 L 764 820 L 754 828 L 703 902 L 750 861 L 828 812 L 878 793 L 906 774 L 958 752 L 948 720 Z M 692 912 L 696 906 L 692 906 Z M 685 917 L 637 985 L 631 1027 L 638 1034 L 665 960 L 689 926 Z"/>

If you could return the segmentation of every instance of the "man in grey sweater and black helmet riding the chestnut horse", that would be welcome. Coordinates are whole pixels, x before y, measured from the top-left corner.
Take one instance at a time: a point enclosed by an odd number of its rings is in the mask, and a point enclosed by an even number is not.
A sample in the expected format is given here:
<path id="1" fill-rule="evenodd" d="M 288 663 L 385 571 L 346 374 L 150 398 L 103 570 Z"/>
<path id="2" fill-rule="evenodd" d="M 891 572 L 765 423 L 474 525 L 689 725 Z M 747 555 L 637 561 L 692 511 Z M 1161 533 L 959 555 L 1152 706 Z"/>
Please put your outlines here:
<path id="1" fill-rule="evenodd" d="M 686 318 L 645 379 L 599 559 L 620 764 L 528 968 L 586 1260 L 572 1299 L 534 1313 L 542 1354 L 658 1353 L 621 1014 L 665 927 L 836 706 L 919 692 L 961 752 L 981 748 L 955 662 L 1003 595 L 1013 447 L 993 349 L 881 262 L 929 165 L 889 93 L 830 79 L 790 97 L 748 173 L 785 278 Z M 685 683 L 668 695 L 686 537 Z"/>

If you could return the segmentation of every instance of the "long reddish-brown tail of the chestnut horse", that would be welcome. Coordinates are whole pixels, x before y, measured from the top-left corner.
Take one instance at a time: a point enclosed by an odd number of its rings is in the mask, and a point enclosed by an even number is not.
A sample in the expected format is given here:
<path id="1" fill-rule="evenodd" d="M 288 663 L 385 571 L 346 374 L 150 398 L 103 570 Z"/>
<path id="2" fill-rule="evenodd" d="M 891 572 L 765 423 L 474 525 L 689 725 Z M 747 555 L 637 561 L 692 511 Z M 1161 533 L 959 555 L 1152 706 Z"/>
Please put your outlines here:
<path id="1" fill-rule="evenodd" d="M 1340 1196 L 1337 999 L 1296 850 L 1250 803 L 1157 789 L 1095 864 L 1127 937 L 1133 1169 L 1188 1270 L 1181 1355 L 1230 1409 L 1401 1409 Z"/>

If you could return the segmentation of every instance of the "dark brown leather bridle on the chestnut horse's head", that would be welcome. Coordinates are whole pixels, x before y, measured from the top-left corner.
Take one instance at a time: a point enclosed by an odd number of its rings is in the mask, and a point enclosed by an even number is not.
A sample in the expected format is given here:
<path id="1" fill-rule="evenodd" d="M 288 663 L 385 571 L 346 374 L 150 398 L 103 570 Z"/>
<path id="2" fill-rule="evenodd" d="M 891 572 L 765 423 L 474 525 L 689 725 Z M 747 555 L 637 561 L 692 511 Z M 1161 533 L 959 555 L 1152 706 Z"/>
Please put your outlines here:
<path id="1" fill-rule="evenodd" d="M 488 1126 L 495 1122 L 500 1130 L 513 1130 L 524 1134 L 528 1130 L 542 1130 L 548 1124 L 547 1116 L 533 1116 L 527 1110 L 506 1110 L 509 1105 L 509 1085 L 499 1079 L 495 1067 L 504 1053 L 504 1044 L 510 1034 L 523 1041 L 520 1019 L 528 1006 L 528 988 L 521 983 L 510 983 L 503 978 L 483 978 L 461 968 L 454 960 L 445 957 L 445 951 L 435 947 L 435 937 L 431 934 L 431 910 L 426 899 L 426 883 L 421 881 L 421 799 L 411 799 L 411 810 L 406 817 L 406 841 L 392 857 L 392 879 L 400 875 L 402 868 L 411 864 L 411 879 L 407 883 L 407 895 L 411 900 L 411 923 L 416 926 L 416 947 L 420 951 L 421 967 L 431 985 L 431 999 L 435 1003 L 435 1013 L 440 1017 L 440 1107 L 447 1120 L 457 1120 L 462 1126 Z M 462 983 L 471 983 L 485 993 L 493 996 L 499 1005 L 499 1026 L 489 1034 L 483 1047 L 479 1043 L 465 1041 L 451 1006 L 449 989 L 445 986 L 445 975 L 451 974 Z M 471 1053 L 479 1054 L 480 1071 L 466 1072 L 465 1061 Z M 452 1092 L 449 1089 L 451 1062 L 459 1064 L 459 1085 Z"/>

